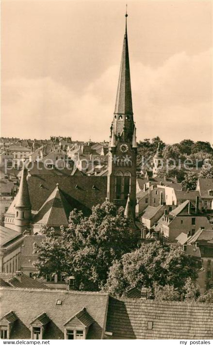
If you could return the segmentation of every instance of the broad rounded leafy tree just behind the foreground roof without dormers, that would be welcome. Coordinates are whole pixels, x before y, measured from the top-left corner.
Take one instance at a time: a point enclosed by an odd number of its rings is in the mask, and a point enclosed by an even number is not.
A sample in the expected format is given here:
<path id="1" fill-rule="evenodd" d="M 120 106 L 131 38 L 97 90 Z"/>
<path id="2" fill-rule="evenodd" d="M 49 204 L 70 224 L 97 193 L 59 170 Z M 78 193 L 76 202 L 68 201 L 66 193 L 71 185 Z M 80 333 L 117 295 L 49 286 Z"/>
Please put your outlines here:
<path id="1" fill-rule="evenodd" d="M 192 259 L 180 247 L 160 242 L 142 243 L 110 267 L 105 290 L 122 296 L 133 286 L 141 289 L 157 284 L 173 286 L 182 294 L 188 277 L 195 279 L 196 271 Z"/>

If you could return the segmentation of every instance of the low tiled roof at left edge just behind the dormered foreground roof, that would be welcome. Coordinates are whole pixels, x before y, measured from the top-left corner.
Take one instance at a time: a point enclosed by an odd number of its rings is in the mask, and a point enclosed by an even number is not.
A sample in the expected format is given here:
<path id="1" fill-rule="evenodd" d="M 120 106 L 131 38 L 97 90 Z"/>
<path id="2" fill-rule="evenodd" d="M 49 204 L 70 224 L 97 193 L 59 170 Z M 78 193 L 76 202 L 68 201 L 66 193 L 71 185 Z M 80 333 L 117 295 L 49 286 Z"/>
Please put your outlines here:
<path id="1" fill-rule="evenodd" d="M 48 289 L 46 285 L 40 283 L 36 279 L 31 279 L 24 273 L 0 273 L 0 278 L 12 287 L 34 288 L 34 289 Z M 5 286 L 0 283 L 0 286 Z"/>

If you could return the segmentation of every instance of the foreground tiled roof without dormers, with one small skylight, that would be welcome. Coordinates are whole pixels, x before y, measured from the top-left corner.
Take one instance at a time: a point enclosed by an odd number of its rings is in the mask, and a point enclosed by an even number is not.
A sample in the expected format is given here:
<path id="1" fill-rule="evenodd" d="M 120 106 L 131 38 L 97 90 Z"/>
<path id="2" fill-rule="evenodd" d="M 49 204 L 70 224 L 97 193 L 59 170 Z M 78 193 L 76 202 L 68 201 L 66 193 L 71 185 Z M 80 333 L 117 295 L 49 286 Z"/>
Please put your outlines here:
<path id="1" fill-rule="evenodd" d="M 110 298 L 106 331 L 110 339 L 212 339 L 213 304 Z"/>

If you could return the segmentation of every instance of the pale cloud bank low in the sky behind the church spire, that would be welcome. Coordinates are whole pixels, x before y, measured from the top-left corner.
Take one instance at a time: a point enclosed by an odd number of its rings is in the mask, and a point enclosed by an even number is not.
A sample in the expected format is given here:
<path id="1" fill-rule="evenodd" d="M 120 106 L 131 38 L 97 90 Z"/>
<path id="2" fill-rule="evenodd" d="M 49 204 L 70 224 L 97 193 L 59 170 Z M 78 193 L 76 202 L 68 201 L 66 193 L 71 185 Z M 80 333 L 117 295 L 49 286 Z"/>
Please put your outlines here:
<path id="1" fill-rule="evenodd" d="M 137 138 L 159 135 L 167 142 L 212 140 L 211 51 L 171 56 L 158 68 L 131 63 Z M 119 66 L 111 66 L 79 96 L 51 77 L 2 83 L 3 136 L 107 139 Z"/>

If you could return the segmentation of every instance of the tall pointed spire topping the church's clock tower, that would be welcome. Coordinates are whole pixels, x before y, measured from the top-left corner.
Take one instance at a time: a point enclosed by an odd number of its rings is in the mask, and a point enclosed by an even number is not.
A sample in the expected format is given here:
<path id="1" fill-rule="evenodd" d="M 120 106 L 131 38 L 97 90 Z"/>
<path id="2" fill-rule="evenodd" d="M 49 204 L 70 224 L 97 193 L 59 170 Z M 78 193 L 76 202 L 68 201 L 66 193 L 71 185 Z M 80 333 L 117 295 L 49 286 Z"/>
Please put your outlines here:
<path id="1" fill-rule="evenodd" d="M 127 38 L 127 16 L 126 17 L 126 30 L 124 35 L 122 58 L 120 64 L 120 74 L 118 80 L 117 97 L 115 103 L 114 114 L 127 114 L 133 115 L 132 109 L 132 92 L 130 83 L 130 68 L 129 68 L 129 51 L 128 51 L 128 38 Z"/>

